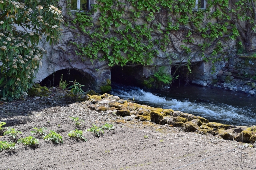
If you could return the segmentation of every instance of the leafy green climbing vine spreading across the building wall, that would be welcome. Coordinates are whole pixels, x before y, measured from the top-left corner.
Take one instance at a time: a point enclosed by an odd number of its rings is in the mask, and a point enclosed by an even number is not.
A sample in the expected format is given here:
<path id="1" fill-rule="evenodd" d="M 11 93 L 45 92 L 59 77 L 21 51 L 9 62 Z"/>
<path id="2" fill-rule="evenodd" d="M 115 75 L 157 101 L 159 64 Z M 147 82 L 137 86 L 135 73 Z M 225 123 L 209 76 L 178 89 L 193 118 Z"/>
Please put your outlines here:
<path id="1" fill-rule="evenodd" d="M 158 57 L 189 66 L 196 57 L 220 61 L 228 43 L 240 37 L 234 16 L 246 20 L 242 1 L 208 0 L 206 9 L 194 9 L 195 0 L 97 0 L 91 11 L 69 11 L 65 20 L 79 30 L 77 37 L 86 37 L 70 41 L 82 60 L 123 66 L 152 64 Z"/>

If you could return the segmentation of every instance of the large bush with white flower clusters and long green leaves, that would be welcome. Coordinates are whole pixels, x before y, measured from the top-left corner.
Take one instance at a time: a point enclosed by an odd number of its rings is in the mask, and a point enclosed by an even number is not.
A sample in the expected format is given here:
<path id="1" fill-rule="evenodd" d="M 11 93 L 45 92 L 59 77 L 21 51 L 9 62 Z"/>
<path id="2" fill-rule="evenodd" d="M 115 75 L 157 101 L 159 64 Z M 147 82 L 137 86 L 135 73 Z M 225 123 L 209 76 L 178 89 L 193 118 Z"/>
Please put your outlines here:
<path id="1" fill-rule="evenodd" d="M 62 12 L 58 0 L 0 0 L 0 101 L 26 94 L 50 44 L 60 37 Z M 16 28 L 16 26 L 18 27 Z"/>

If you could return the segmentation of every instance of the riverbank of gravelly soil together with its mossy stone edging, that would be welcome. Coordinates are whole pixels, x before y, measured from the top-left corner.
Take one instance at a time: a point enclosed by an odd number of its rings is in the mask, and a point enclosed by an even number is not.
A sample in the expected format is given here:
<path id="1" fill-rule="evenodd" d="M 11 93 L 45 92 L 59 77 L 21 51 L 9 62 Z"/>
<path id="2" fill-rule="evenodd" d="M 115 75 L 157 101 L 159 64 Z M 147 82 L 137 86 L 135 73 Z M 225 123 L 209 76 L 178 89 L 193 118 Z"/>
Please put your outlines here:
<path id="1" fill-rule="evenodd" d="M 255 134 L 253 127 L 211 123 L 188 113 L 93 91 L 74 95 L 55 88 L 45 90 L 40 92 L 43 96 L 0 104 L 0 121 L 21 131 L 17 138 L 31 135 L 33 127 L 46 127 L 62 135 L 64 143 L 54 145 L 39 138 L 37 148 L 16 144 L 16 150 L 0 152 L 0 169 L 256 168 L 256 150 L 238 142 L 241 131 Z M 78 127 L 70 117 L 84 123 Z M 106 122 L 115 129 L 104 130 L 100 137 L 86 131 Z M 88 141 L 69 138 L 67 133 L 74 129 L 81 129 Z M 0 137 L 0 141 L 11 140 L 7 135 Z"/>

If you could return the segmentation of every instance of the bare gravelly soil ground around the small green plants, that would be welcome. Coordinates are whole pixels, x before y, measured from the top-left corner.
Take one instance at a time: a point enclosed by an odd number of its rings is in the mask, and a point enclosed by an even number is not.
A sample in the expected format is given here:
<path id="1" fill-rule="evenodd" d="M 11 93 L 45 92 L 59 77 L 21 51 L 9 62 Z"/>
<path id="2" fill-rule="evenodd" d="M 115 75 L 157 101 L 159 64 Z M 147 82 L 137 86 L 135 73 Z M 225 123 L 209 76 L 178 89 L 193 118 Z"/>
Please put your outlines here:
<path id="1" fill-rule="evenodd" d="M 90 101 L 63 102 L 54 98 L 27 98 L 0 105 L 0 121 L 27 137 L 33 127 L 55 130 L 63 144 L 39 138 L 38 148 L 16 144 L 15 150 L 0 152 L 1 170 L 252 170 L 256 169 L 256 149 L 218 136 L 186 133 L 181 128 L 126 121 L 112 111 L 92 111 Z M 81 129 L 88 141 L 70 139 L 78 127 L 69 117 L 84 120 Z M 86 129 L 92 124 L 114 125 L 96 137 Z M 60 125 L 60 127 L 58 127 Z M 145 139 L 148 136 L 148 139 Z M 34 136 L 34 135 L 32 135 Z M 37 136 L 35 136 L 37 137 Z M 0 141 L 10 141 L 1 136 Z M 242 161 L 241 161 L 242 155 Z"/>

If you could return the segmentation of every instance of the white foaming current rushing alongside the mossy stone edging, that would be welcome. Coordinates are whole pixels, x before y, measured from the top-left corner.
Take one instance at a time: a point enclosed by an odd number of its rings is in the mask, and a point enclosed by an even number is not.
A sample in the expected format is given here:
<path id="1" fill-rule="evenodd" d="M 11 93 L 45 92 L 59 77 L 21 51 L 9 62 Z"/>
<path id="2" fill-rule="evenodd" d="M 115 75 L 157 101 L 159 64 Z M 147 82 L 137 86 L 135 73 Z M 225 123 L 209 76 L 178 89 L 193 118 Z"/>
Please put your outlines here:
<path id="1" fill-rule="evenodd" d="M 195 86 L 195 88 L 201 88 L 201 93 L 204 91 L 202 90 L 202 87 Z M 208 90 L 214 89 L 208 88 Z M 194 91 L 195 90 L 193 90 L 193 92 Z M 207 91 L 207 93 L 209 93 L 209 91 Z M 193 98 L 189 98 L 182 94 L 180 94 L 181 97 L 178 97 L 177 94 L 172 94 L 170 91 L 162 92 L 160 94 L 153 94 L 151 92 L 145 92 L 140 88 L 130 86 L 114 86 L 111 94 L 119 96 L 124 100 L 133 100 L 134 98 L 135 102 L 138 104 L 146 104 L 152 107 L 162 107 L 164 109 L 179 110 L 184 113 L 202 116 L 209 121 L 231 125 L 249 126 L 256 124 L 256 109 L 254 106 L 234 106 L 232 105 L 232 102 L 231 104 L 220 103 L 219 101 L 215 101 L 216 98 L 214 98 L 214 96 L 212 96 L 213 100 L 211 98 L 207 98 L 208 100 L 200 98 L 198 99 L 198 96 L 194 95 Z M 221 98 L 221 96 L 219 97 Z M 234 97 L 241 99 L 241 97 L 236 95 L 233 95 L 232 97 L 233 99 Z M 246 98 L 244 99 L 246 101 L 248 100 Z M 252 100 L 255 101 L 255 98 Z"/>

